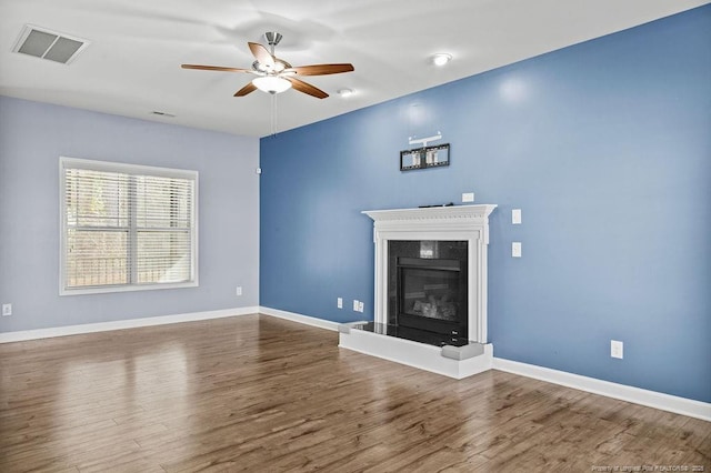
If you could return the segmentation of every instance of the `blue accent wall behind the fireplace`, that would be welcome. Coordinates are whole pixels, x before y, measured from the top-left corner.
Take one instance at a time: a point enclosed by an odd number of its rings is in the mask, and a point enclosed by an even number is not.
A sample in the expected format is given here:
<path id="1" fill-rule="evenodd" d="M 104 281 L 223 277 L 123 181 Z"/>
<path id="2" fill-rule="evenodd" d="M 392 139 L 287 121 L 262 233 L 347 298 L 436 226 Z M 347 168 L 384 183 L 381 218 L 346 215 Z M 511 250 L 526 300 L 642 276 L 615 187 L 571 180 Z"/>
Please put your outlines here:
<path id="1" fill-rule="evenodd" d="M 401 172 L 438 130 L 451 165 Z M 498 358 L 711 402 L 711 6 L 263 138 L 260 161 L 261 305 L 372 319 L 360 212 L 475 192 L 499 204 Z"/>

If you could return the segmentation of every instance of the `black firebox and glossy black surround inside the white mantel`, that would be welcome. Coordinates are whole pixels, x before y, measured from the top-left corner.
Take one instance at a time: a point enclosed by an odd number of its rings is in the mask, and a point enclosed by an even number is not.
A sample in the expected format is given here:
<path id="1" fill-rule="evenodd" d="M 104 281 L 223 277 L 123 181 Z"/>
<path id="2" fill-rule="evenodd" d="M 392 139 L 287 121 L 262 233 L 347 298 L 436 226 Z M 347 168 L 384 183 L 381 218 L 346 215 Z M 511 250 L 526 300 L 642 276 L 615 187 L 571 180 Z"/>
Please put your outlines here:
<path id="1" fill-rule="evenodd" d="M 468 336 L 467 241 L 389 241 L 388 324 Z"/>

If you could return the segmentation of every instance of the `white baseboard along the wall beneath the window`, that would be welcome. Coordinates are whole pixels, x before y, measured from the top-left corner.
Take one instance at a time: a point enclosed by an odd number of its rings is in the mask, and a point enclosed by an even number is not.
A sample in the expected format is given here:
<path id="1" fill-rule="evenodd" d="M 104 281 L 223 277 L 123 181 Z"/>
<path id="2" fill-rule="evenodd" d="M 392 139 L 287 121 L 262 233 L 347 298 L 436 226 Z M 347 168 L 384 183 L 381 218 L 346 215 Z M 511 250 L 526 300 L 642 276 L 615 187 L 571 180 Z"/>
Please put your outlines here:
<path id="1" fill-rule="evenodd" d="M 50 339 L 52 336 L 79 335 L 82 333 L 107 332 L 110 330 L 136 329 L 139 326 L 164 325 L 168 323 L 196 322 L 226 316 L 256 314 L 259 308 L 222 309 L 207 312 L 150 316 L 143 319 L 117 320 L 112 322 L 84 323 L 81 325 L 56 326 L 50 329 L 22 330 L 0 333 L 0 343 L 24 342 L 28 340 Z"/>

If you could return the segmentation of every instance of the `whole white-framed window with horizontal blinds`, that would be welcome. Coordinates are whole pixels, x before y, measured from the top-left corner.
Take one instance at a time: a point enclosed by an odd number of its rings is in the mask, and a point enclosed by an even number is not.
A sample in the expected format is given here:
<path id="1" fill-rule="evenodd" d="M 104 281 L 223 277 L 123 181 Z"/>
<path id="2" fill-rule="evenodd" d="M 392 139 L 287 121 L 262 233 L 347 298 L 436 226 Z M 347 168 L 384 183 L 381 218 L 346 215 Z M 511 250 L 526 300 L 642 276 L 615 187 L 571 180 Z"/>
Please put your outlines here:
<path id="1" fill-rule="evenodd" d="M 60 159 L 60 293 L 198 285 L 198 172 Z"/>

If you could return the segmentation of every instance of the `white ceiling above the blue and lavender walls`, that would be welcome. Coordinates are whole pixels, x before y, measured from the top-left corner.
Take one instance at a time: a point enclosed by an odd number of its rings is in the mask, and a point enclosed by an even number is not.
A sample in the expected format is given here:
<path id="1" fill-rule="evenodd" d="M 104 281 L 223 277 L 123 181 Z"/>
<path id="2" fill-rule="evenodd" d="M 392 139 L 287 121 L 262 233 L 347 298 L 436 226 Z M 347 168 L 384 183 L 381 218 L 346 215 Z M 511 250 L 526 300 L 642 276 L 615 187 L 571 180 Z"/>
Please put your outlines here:
<path id="1" fill-rule="evenodd" d="M 331 97 L 277 95 L 283 131 L 667 17 L 709 0 L 0 0 L 0 94 L 263 137 L 271 98 L 233 93 L 252 76 L 248 41 L 283 40 L 293 66 L 351 62 L 304 78 Z M 70 64 L 12 52 L 26 23 L 91 44 Z M 428 58 L 449 52 L 435 68 Z M 356 93 L 343 99 L 337 90 Z M 157 117 L 152 111 L 174 113 Z"/>

